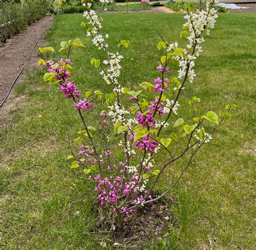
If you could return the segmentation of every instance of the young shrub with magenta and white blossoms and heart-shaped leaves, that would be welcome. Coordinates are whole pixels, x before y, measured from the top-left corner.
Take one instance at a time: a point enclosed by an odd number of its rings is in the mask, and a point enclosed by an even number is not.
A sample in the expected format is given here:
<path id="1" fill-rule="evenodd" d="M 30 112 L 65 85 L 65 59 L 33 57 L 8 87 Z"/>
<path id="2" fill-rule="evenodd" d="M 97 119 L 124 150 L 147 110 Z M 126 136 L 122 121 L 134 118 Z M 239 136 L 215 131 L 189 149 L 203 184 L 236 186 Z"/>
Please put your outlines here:
<path id="1" fill-rule="evenodd" d="M 108 1 L 100 2 L 103 13 Z M 164 50 L 164 55 L 160 58 L 161 64 L 156 65 L 156 79 L 153 83 L 139 84 L 137 90 L 122 86 L 118 81 L 123 59 L 120 51 L 129 47 L 129 41 L 121 40 L 118 52 L 110 52 L 107 44 L 109 35 L 102 33 L 102 13 L 98 16 L 90 3 L 84 3 L 85 22 L 81 25 L 87 28 L 87 36 L 97 49 L 104 51 L 105 59 L 92 58 L 91 64 L 100 68 L 99 74 L 107 85 L 112 86 L 110 93 L 86 91 L 82 97 L 82 92 L 70 81 L 70 51 L 84 47 L 80 39 L 60 43 L 59 51 L 67 50 L 68 56 L 58 62 L 48 61 L 44 55 L 46 51 L 54 52 L 53 48 L 39 48 L 42 59 L 38 64 L 48 69 L 44 80 L 59 84 L 60 91 L 72 100 L 72 106 L 82 120 L 83 129 L 78 131 L 79 137 L 75 139 L 80 144 L 79 151 L 67 158 L 72 159 L 71 168 L 84 168 L 84 173 L 89 175 L 88 180 L 96 184 L 97 200 L 117 214 L 119 225 L 122 225 L 124 216 L 137 217 L 140 206 L 156 201 L 172 190 L 198 150 L 212 139 L 213 131 L 235 107 L 227 105 L 219 115 L 213 111 L 199 115 L 193 109 L 191 120 L 178 118 L 181 92 L 185 91 L 186 84 L 193 84 L 196 76 L 194 60 L 202 51 L 202 34 L 204 31 L 208 34 L 214 28 L 217 13 L 213 4 L 208 3 L 206 10 L 199 13 L 187 10 L 181 32 L 181 37 L 188 42 L 186 48 L 180 48 L 176 42 L 169 44 L 164 39 L 159 42 L 157 47 Z M 179 64 L 177 76 L 171 69 L 172 62 Z M 99 100 L 104 100 L 103 110 L 99 110 Z M 194 103 L 200 103 L 200 99 L 193 97 L 188 102 L 191 106 Z M 93 126 L 85 119 L 89 113 L 96 118 Z M 212 129 L 206 131 L 204 124 L 208 122 L 213 127 L 208 126 Z M 102 141 L 95 140 L 96 132 L 101 134 Z M 111 133 L 112 137 L 107 136 Z M 119 141 L 118 150 L 123 152 L 122 158 L 111 150 L 116 141 Z M 165 157 L 160 163 L 157 155 L 163 152 Z M 188 161 L 177 179 L 166 183 L 166 190 L 161 195 L 152 197 L 161 174 L 184 157 L 188 157 Z"/>

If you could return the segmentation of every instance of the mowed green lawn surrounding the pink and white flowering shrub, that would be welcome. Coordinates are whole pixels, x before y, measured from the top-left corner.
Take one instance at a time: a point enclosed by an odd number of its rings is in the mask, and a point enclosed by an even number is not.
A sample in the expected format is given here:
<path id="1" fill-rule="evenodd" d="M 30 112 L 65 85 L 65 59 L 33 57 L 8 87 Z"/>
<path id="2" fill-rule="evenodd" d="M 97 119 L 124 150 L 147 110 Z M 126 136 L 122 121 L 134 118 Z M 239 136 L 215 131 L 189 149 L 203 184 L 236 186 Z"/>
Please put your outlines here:
<path id="1" fill-rule="evenodd" d="M 111 91 L 98 76 L 90 59 L 101 57 L 80 27 L 81 15 L 61 15 L 48 32 L 49 44 L 79 37 L 84 50 L 71 53 L 72 80 L 83 92 Z M 227 103 L 237 113 L 214 134 L 179 185 L 171 210 L 170 244 L 163 249 L 255 249 L 255 14 L 220 14 L 216 28 L 206 37 L 197 59 L 198 77 L 183 93 L 179 115 L 187 100 L 201 98 L 199 112 L 218 112 Z M 113 14 L 104 17 L 110 50 L 120 39 L 129 39 L 123 51 L 120 82 L 127 86 L 157 76 L 161 52 L 156 30 L 169 42 L 179 38 L 181 14 Z M 63 54 L 64 56 L 64 54 Z M 59 55 L 54 56 L 59 58 Z M 176 69 L 174 69 L 176 70 Z M 36 68 L 17 86 L 18 98 L 2 118 L 1 130 L 1 243 L 2 249 L 101 249 L 93 233 L 93 185 L 80 170 L 70 170 L 65 157 L 69 141 L 81 124 L 71 102 L 57 86 L 44 83 L 44 70 Z M 88 122 L 93 118 L 86 117 Z M 117 159 L 118 160 L 118 159 Z M 161 181 L 160 188 L 166 184 Z M 77 215 L 77 211 L 80 212 Z M 108 244 L 109 241 L 106 240 Z M 112 242 L 113 243 L 113 242 Z M 155 244 L 150 249 L 161 249 Z"/>

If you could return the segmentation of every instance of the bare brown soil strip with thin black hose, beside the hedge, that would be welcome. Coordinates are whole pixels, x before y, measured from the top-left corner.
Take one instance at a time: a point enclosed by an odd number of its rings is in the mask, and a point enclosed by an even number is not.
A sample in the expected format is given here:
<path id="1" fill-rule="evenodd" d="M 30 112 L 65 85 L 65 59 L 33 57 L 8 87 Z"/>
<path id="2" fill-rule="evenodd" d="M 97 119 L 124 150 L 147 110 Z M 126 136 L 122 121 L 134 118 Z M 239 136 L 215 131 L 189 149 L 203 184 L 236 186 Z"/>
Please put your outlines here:
<path id="1" fill-rule="evenodd" d="M 50 28 L 52 19 L 52 16 L 42 18 L 38 22 L 29 26 L 29 28 L 24 30 L 22 33 L 7 40 L 7 42 L 0 47 L 0 103 L 2 103 L 9 91 L 11 84 L 21 71 L 30 51 L 33 49 L 33 46 L 35 46 L 36 40 L 43 31 Z M 43 46 L 43 44 L 45 44 L 44 34 L 38 40 L 37 45 Z M 36 64 L 37 59 L 37 51 L 34 49 L 22 75 L 18 78 L 17 82 L 21 82 L 26 71 L 31 66 Z M 6 108 L 6 106 L 8 106 L 9 103 L 10 98 L 8 98 L 5 104 L 3 104 L 0 113 Z"/>

